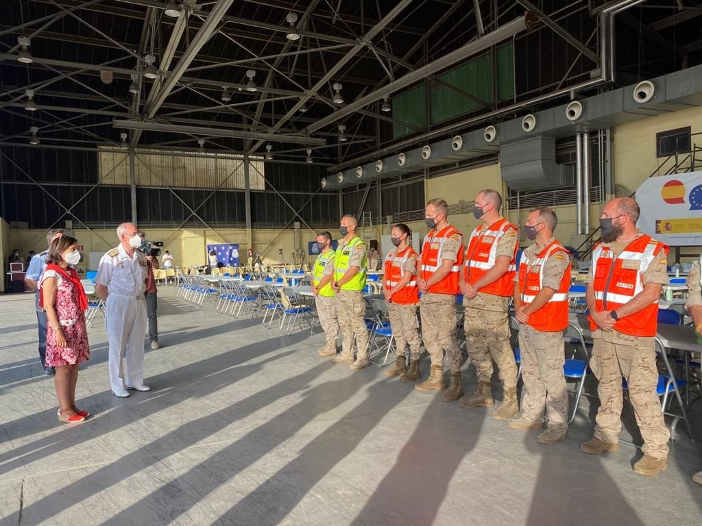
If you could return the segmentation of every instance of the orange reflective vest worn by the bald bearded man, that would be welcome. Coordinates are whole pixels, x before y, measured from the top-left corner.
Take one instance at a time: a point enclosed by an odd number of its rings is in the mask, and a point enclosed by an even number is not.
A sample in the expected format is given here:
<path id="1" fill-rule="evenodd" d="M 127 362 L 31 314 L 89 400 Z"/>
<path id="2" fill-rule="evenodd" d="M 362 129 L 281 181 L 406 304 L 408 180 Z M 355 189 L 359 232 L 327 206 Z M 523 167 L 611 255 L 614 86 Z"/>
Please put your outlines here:
<path id="1" fill-rule="evenodd" d="M 641 276 L 661 250 L 668 257 L 668 246 L 645 234 L 629 243 L 616 259 L 611 248 L 597 243 L 592 249 L 592 288 L 597 311 L 616 311 L 644 290 Z M 619 318 L 614 330 L 630 336 L 655 336 L 657 318 L 658 298 L 641 311 Z M 590 329 L 596 328 L 590 318 Z"/>

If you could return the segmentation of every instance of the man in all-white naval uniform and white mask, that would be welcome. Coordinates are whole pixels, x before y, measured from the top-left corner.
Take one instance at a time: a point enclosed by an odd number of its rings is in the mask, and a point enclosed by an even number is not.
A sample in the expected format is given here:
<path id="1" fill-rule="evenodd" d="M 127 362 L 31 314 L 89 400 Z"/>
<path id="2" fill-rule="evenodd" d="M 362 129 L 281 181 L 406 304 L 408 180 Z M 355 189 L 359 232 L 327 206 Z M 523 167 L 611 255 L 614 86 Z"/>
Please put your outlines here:
<path id="1" fill-rule="evenodd" d="M 144 384 L 144 340 L 147 313 L 146 257 L 136 250 L 141 245 L 139 230 L 131 223 L 117 227 L 119 246 L 100 259 L 95 292 L 105 300 L 105 326 L 110 344 L 110 388 L 114 396 L 126 398 L 126 389 L 150 391 Z M 124 356 L 124 382 L 119 365 Z M 126 389 L 125 389 L 126 387 Z"/>

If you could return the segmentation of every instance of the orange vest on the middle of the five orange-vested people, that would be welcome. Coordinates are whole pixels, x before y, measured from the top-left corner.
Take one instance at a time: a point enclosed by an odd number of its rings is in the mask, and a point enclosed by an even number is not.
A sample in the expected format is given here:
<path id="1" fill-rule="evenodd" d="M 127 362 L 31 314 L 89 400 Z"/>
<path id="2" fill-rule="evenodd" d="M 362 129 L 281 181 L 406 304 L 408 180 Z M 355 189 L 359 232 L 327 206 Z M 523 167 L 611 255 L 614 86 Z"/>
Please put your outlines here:
<path id="1" fill-rule="evenodd" d="M 515 225 L 510 223 L 504 217 L 491 224 L 486 231 L 480 232 L 482 227 L 477 227 L 468 241 L 468 249 L 465 250 L 465 265 L 463 266 L 463 277 L 466 283 L 476 283 L 482 278 L 487 271 L 495 266 L 497 259 L 497 243 L 502 236 L 505 235 L 508 229 L 517 229 Z M 512 261 L 507 268 L 507 272 L 503 274 L 493 283 L 485 285 L 480 289 L 480 292 L 485 294 L 494 294 L 496 296 L 511 296 L 515 290 L 515 259 L 517 257 L 517 249 L 519 243 L 515 243 L 515 251 L 512 254 Z"/>

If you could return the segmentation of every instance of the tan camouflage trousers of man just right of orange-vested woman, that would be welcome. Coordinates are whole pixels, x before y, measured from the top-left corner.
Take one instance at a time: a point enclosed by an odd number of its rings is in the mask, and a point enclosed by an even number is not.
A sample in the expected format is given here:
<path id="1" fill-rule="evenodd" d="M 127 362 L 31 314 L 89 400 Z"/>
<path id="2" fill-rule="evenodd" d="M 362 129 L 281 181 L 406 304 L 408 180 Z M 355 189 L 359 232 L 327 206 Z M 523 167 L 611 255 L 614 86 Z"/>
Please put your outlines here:
<path id="1" fill-rule="evenodd" d="M 456 342 L 456 296 L 423 294 L 419 313 L 422 318 L 422 340 L 432 365 L 443 365 L 446 351 L 451 372 L 461 372 L 461 347 Z"/>

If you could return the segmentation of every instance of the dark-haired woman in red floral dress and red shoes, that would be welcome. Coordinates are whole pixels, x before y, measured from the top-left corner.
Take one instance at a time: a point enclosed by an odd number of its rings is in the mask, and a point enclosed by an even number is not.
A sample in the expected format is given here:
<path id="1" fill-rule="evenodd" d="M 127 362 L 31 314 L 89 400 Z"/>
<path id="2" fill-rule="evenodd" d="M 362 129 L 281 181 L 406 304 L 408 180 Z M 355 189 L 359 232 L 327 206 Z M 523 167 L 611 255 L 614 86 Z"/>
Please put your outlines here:
<path id="1" fill-rule="evenodd" d="M 46 367 L 55 367 L 54 382 L 61 422 L 83 422 L 90 416 L 76 407 L 78 364 L 90 358 L 84 311 L 88 308 L 81 280 L 72 268 L 81 255 L 77 241 L 57 238 L 49 246 L 41 277 L 39 305 L 46 310 Z"/>

